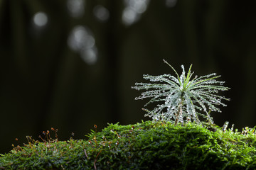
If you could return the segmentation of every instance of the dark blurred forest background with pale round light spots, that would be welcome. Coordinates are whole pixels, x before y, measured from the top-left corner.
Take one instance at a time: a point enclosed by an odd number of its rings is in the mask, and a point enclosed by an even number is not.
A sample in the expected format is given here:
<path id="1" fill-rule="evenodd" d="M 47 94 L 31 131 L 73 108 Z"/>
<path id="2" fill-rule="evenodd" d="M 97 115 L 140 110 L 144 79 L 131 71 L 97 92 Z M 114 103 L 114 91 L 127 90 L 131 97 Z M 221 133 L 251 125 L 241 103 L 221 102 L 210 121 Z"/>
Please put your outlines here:
<path id="1" fill-rule="evenodd" d="M 256 125 L 256 1 L 0 0 L 0 153 L 144 118 L 142 74 L 222 75 L 217 125 Z M 15 139 L 18 138 L 18 141 Z"/>

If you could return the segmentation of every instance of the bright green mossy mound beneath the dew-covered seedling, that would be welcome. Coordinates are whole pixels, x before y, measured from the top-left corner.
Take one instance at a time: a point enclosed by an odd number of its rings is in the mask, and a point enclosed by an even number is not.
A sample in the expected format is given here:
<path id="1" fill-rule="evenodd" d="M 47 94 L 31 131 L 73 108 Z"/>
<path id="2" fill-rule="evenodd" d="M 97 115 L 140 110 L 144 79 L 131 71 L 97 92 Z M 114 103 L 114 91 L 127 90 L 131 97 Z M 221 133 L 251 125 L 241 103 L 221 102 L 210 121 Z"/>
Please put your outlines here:
<path id="1" fill-rule="evenodd" d="M 255 128 L 146 121 L 110 124 L 87 140 L 27 138 L 0 155 L 0 169 L 256 169 Z"/>

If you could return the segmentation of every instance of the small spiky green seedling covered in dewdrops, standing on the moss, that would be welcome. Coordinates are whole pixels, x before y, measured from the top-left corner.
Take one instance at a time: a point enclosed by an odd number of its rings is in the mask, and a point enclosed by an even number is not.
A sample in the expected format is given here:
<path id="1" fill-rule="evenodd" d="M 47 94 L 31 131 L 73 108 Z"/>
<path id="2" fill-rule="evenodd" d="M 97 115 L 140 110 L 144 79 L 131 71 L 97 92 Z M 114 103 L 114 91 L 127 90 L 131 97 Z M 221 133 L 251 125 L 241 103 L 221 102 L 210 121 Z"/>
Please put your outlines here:
<path id="1" fill-rule="evenodd" d="M 170 67 L 171 65 L 164 60 Z M 206 76 L 197 77 L 192 79 L 193 72 L 191 72 L 191 66 L 186 74 L 183 65 L 181 65 L 182 74 L 178 75 L 174 67 L 177 77 L 171 74 L 163 74 L 160 76 L 143 75 L 143 78 L 152 83 L 136 83 L 132 86 L 132 89 L 146 90 L 142 92 L 141 96 L 135 98 L 151 98 L 146 103 L 157 102 L 156 107 L 149 111 L 144 109 L 147 113 L 145 116 L 149 116 L 153 120 L 166 120 L 172 123 L 185 123 L 193 121 L 195 123 L 201 123 L 199 117 L 203 117 L 210 123 L 213 123 L 213 118 L 210 117 L 210 111 L 221 112 L 217 106 L 226 106 L 222 103 L 222 100 L 229 101 L 229 98 L 224 96 L 218 96 L 218 91 L 227 91 L 228 87 L 223 86 L 225 81 L 217 81 L 215 73 L 208 74 Z M 203 111 L 199 113 L 198 111 Z"/>

